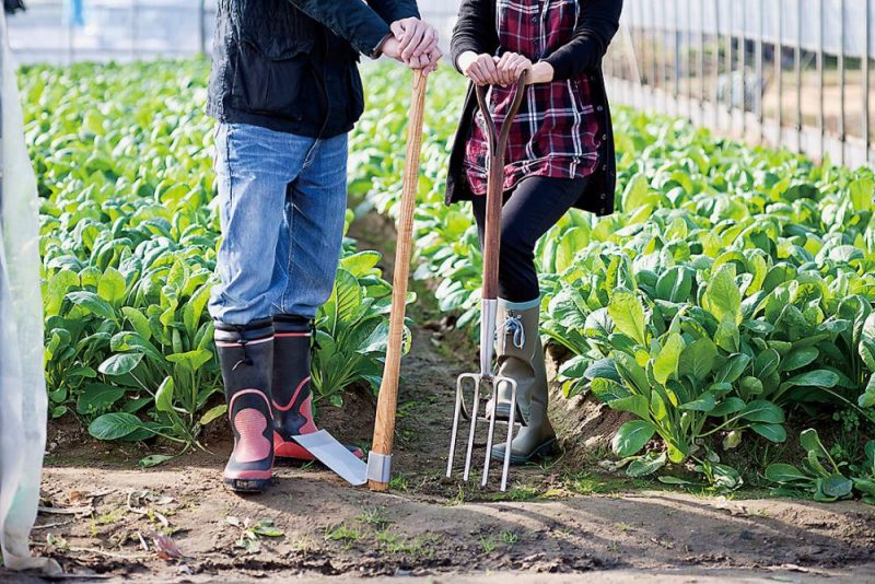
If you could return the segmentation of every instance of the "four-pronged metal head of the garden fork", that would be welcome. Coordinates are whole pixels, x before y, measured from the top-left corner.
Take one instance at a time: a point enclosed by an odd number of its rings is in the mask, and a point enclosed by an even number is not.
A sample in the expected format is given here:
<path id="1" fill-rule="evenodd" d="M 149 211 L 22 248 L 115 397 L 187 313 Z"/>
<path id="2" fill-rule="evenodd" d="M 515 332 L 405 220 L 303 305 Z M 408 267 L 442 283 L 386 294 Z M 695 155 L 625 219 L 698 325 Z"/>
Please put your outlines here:
<path id="1" fill-rule="evenodd" d="M 491 413 L 479 413 L 480 401 L 482 399 L 495 398 L 495 388 L 499 384 L 508 384 L 511 388 L 511 416 L 506 421 L 495 420 L 495 408 L 492 408 Z M 470 410 L 467 408 L 467 400 L 465 399 L 466 387 L 470 388 Z M 477 432 L 478 423 L 487 423 L 489 430 L 487 432 L 486 441 L 486 460 L 483 463 L 483 476 L 480 481 L 481 487 L 486 487 L 489 480 L 489 463 L 492 459 L 492 443 L 495 434 L 495 424 L 508 424 L 508 436 L 504 445 L 504 460 L 501 474 L 501 490 L 508 490 L 508 475 L 511 467 L 511 442 L 513 441 L 514 417 L 516 413 L 516 381 L 503 375 L 483 375 L 482 373 L 463 373 L 456 379 L 456 405 L 453 413 L 453 432 L 450 442 L 450 457 L 446 463 L 446 476 L 453 476 L 453 464 L 456 455 L 456 441 L 458 437 L 458 427 L 462 419 L 470 420 L 470 428 L 468 430 L 468 443 L 465 449 L 465 467 L 463 470 L 463 479 L 468 480 L 471 469 L 471 456 L 475 446 L 475 435 Z"/>

